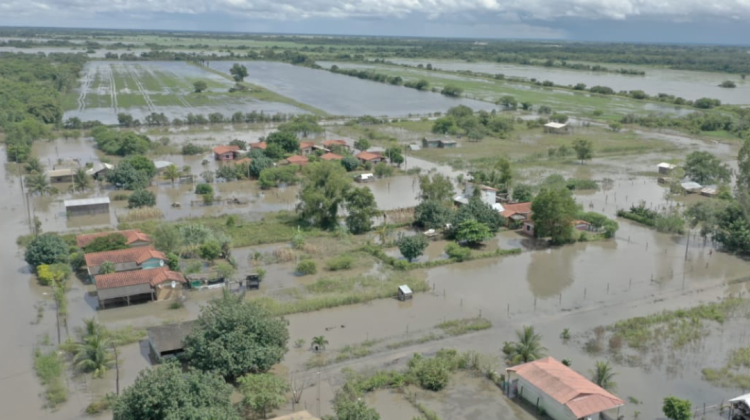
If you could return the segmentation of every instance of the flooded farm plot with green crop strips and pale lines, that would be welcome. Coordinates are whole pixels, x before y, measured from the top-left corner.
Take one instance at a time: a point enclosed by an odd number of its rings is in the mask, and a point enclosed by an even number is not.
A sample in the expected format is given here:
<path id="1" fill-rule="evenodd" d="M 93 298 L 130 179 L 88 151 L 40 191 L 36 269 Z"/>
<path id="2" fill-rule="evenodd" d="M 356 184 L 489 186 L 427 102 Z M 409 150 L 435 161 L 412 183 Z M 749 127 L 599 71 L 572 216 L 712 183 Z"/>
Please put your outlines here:
<path id="1" fill-rule="evenodd" d="M 193 83 L 199 80 L 207 89 L 195 93 Z M 184 118 L 188 113 L 303 112 L 288 104 L 230 94 L 231 85 L 230 80 L 185 62 L 92 61 L 82 72 L 80 87 L 63 101 L 65 118 L 116 124 L 120 112 L 141 121 L 152 112 L 164 113 L 169 119 Z"/>

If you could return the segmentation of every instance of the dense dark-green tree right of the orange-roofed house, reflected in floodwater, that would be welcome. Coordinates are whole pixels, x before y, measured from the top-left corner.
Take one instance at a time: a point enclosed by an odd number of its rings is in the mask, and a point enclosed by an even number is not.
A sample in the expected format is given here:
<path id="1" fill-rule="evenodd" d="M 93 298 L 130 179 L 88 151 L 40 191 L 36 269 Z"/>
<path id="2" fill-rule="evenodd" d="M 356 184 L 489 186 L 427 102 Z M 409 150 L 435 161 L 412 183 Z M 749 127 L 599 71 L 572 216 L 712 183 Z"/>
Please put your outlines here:
<path id="1" fill-rule="evenodd" d="M 554 244 L 573 240 L 578 206 L 567 188 L 542 188 L 531 203 L 531 212 L 535 236 L 550 237 Z"/>

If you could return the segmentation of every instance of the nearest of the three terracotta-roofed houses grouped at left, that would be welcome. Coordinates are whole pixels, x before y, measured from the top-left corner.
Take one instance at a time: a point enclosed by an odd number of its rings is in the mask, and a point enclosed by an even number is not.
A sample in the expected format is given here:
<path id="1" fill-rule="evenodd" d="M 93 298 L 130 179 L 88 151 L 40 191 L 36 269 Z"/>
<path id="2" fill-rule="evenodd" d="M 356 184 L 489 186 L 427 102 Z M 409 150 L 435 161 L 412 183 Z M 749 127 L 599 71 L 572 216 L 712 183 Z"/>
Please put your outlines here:
<path id="1" fill-rule="evenodd" d="M 168 267 L 153 270 L 122 271 L 102 274 L 94 279 L 99 306 L 105 303 L 125 301 L 130 305 L 132 300 L 166 300 L 180 295 L 185 277 Z"/>

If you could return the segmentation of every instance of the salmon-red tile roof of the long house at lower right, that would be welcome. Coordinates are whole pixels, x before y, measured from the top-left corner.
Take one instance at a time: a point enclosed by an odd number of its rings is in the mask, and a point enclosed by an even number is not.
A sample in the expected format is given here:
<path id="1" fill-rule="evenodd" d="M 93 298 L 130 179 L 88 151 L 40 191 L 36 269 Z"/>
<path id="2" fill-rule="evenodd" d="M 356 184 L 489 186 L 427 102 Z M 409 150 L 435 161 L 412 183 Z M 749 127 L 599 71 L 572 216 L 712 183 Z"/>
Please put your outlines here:
<path id="1" fill-rule="evenodd" d="M 552 357 L 514 366 L 508 368 L 508 371 L 515 372 L 568 407 L 579 419 L 625 404 L 623 400 Z"/>

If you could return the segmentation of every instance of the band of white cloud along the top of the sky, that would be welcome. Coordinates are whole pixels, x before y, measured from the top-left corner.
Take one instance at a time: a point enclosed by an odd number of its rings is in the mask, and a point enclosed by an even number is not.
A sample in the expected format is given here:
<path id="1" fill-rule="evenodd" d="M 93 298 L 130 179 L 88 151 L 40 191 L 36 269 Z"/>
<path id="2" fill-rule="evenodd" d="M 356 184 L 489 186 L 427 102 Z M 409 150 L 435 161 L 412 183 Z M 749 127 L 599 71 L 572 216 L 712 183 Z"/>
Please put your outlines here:
<path id="1" fill-rule="evenodd" d="M 554 20 L 557 18 L 669 20 L 720 17 L 750 19 L 750 0 L 4 0 L 2 23 L 14 17 L 95 17 L 103 13 L 225 13 L 248 18 L 444 19 L 475 15 L 482 19 Z"/>

